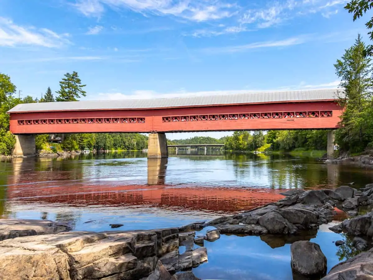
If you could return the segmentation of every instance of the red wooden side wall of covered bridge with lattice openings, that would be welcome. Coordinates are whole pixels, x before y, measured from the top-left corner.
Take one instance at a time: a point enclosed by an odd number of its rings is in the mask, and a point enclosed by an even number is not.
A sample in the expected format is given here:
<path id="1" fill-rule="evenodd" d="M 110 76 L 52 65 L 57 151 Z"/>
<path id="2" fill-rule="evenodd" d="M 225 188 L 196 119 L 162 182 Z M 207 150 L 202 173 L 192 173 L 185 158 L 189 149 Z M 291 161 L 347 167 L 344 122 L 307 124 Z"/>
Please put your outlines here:
<path id="1" fill-rule="evenodd" d="M 334 129 L 336 100 L 187 108 L 10 112 L 14 134 Z"/>

